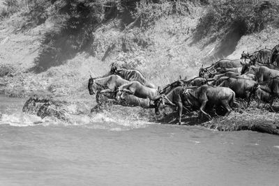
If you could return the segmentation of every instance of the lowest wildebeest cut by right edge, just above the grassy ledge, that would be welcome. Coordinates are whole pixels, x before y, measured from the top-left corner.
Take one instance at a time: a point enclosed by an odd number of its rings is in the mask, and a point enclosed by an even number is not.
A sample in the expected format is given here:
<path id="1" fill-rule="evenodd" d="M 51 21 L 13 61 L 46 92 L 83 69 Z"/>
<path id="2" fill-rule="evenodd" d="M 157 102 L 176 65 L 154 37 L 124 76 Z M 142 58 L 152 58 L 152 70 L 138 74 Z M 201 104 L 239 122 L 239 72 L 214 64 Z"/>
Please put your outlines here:
<path id="1" fill-rule="evenodd" d="M 274 98 L 279 98 L 279 78 L 275 77 L 269 81 L 262 82 L 257 89 L 255 95 L 259 100 L 269 102 L 271 110 Z"/>

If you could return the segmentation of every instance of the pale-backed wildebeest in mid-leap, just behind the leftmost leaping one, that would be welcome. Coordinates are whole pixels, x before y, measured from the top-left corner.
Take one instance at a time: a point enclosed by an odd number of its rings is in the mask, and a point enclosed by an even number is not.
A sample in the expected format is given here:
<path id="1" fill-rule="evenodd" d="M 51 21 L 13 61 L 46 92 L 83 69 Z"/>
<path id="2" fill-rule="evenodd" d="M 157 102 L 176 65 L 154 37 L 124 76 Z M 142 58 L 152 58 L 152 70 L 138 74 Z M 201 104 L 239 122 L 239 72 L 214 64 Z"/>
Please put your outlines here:
<path id="1" fill-rule="evenodd" d="M 140 82 L 128 82 L 117 88 L 117 94 L 121 92 L 126 92 L 132 95 L 137 96 L 138 98 L 149 98 L 149 100 L 158 100 L 161 95 L 159 91 L 155 88 L 149 88 L 142 85 Z"/>

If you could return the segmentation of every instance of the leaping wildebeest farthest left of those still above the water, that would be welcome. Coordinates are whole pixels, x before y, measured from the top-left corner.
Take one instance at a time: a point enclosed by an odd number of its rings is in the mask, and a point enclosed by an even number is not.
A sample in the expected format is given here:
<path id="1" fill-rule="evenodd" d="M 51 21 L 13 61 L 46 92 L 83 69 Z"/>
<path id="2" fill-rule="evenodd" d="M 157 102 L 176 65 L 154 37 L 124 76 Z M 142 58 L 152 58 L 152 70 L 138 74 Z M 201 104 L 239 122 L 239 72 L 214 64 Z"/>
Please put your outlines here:
<path id="1" fill-rule="evenodd" d="M 109 75 L 100 78 L 90 77 L 88 81 L 89 94 L 93 95 L 98 91 L 101 93 L 113 92 L 116 88 L 123 84 L 128 84 L 128 82 L 128 80 L 123 79 L 119 75 Z"/>

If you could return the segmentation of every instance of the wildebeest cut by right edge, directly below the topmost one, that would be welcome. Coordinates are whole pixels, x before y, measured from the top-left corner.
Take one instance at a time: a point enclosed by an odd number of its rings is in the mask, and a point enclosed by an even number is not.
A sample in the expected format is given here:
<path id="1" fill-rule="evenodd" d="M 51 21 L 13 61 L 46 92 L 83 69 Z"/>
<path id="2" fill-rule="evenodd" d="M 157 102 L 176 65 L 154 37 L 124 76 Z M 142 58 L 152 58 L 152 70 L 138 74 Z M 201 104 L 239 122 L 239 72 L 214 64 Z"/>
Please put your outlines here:
<path id="1" fill-rule="evenodd" d="M 241 70 L 241 75 L 243 74 L 255 75 L 257 82 L 266 82 L 275 77 L 279 77 L 279 71 L 267 68 L 265 66 L 256 67 L 254 65 L 245 64 Z"/>

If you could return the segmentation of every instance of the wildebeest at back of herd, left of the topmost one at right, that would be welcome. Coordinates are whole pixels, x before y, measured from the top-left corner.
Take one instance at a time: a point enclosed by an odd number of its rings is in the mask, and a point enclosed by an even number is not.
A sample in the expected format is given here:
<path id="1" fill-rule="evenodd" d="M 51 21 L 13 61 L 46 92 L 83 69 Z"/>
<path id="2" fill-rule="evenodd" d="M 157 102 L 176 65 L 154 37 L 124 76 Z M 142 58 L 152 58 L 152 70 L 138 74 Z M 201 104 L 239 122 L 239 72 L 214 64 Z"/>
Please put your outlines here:
<path id="1" fill-rule="evenodd" d="M 217 68 L 239 68 L 241 67 L 241 59 L 221 59 L 216 63 L 213 63 L 207 68 L 199 68 L 199 77 L 212 77 L 216 74 Z"/>

